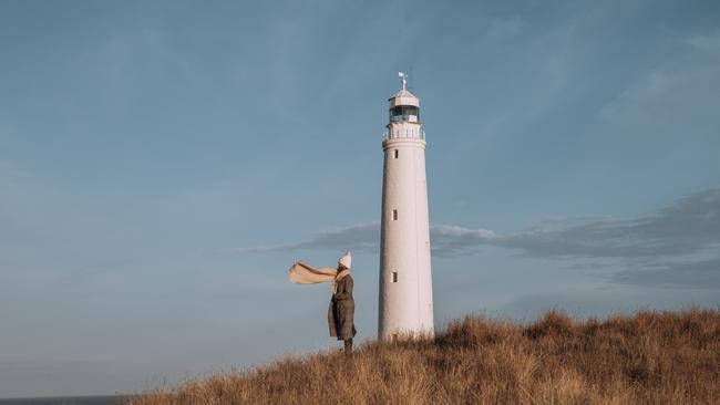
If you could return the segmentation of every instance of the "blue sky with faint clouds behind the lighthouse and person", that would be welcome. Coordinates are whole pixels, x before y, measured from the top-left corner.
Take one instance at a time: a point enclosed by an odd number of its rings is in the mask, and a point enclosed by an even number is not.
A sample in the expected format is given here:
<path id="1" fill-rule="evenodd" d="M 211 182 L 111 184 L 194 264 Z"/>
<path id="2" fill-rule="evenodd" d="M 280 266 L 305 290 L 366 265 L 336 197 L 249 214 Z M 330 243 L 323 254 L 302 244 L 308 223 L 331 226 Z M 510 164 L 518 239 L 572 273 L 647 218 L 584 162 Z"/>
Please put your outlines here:
<path id="1" fill-rule="evenodd" d="M 720 307 L 717 1 L 0 1 L 0 397 L 377 336 L 382 133 L 421 98 L 435 326 Z"/>

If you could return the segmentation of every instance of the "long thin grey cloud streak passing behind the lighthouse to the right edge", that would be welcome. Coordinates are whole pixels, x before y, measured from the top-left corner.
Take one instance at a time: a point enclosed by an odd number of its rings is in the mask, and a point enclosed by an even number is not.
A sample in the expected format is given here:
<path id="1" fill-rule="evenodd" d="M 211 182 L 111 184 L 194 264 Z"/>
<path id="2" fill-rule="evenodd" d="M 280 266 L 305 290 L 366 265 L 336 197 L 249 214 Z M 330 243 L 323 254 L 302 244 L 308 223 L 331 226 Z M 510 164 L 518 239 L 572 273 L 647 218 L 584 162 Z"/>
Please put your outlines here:
<path id="1" fill-rule="evenodd" d="M 537 258 L 648 259 L 682 257 L 720 246 L 720 188 L 692 194 L 659 214 L 636 219 L 587 218 L 538 226 L 508 237 L 487 229 L 436 225 L 430 229 L 433 253 L 472 255 L 492 246 Z M 323 230 L 312 239 L 243 252 L 354 249 L 377 252 L 380 224 Z"/>

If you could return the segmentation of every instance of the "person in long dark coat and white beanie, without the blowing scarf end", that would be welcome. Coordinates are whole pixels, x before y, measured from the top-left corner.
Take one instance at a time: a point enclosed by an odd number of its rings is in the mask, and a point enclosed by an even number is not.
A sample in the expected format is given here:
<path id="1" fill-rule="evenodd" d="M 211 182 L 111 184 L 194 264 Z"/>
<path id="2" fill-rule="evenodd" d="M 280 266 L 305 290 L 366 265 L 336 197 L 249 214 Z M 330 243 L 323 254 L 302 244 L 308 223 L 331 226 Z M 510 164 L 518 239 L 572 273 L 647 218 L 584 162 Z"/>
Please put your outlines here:
<path id="1" fill-rule="evenodd" d="M 352 338 L 358 333 L 354 328 L 354 300 L 352 299 L 352 276 L 350 276 L 350 252 L 338 260 L 338 276 L 335 281 L 332 300 L 328 308 L 328 326 L 330 336 L 344 341 L 344 353 L 352 353 Z"/>

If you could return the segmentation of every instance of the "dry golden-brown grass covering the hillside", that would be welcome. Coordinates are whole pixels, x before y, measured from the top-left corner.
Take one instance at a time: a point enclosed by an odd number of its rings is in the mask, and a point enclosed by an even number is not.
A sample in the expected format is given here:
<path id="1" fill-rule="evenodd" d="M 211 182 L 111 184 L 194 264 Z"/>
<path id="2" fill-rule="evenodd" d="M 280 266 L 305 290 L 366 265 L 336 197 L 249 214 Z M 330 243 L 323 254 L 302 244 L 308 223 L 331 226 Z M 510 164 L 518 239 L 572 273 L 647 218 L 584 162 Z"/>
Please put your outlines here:
<path id="1" fill-rule="evenodd" d="M 467 316 L 434 340 L 368 343 L 350 362 L 286 359 L 128 404 L 720 404 L 720 312 Z"/>

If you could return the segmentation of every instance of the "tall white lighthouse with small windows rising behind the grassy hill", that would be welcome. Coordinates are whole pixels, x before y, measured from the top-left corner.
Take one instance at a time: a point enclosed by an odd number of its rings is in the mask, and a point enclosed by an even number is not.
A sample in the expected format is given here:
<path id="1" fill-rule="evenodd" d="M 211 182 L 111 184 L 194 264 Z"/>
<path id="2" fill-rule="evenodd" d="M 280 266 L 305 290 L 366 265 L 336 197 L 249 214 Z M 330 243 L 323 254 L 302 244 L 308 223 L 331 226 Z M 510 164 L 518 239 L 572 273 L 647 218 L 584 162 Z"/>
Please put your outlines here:
<path id="1" fill-rule="evenodd" d="M 382 142 L 380 314 L 378 334 L 433 335 L 430 224 L 425 180 L 425 135 L 420 98 L 405 89 L 390 97 L 390 123 Z"/>

